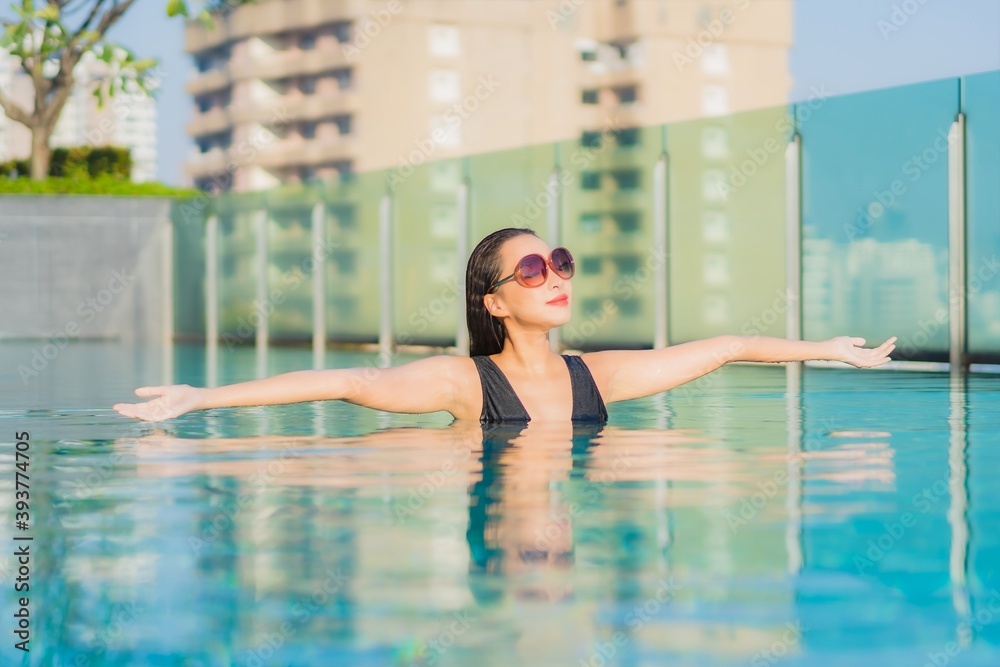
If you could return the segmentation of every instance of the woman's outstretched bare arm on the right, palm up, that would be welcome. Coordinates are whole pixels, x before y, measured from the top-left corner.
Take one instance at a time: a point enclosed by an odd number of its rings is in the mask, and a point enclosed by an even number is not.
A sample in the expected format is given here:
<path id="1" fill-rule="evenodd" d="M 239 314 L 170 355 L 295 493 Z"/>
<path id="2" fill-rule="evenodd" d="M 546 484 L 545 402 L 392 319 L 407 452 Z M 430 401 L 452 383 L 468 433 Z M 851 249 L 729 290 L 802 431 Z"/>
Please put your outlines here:
<path id="1" fill-rule="evenodd" d="M 724 335 L 657 350 L 606 350 L 582 355 L 595 378 L 606 378 L 605 402 L 627 401 L 673 389 L 732 361 L 842 361 L 872 368 L 890 361 L 893 336 L 866 349 L 864 338 L 838 336 L 825 341 L 770 336 Z"/>

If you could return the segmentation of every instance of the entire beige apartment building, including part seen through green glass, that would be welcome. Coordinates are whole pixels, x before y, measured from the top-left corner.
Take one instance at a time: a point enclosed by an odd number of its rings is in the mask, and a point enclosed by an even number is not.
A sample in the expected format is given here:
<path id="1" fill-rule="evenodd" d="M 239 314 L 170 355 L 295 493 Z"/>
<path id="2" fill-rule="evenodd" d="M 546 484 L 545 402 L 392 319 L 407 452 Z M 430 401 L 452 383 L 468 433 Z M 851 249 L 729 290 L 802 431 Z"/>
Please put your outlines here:
<path id="1" fill-rule="evenodd" d="M 760 231 L 783 215 L 783 200 L 761 194 L 784 182 L 783 160 L 735 197 L 720 197 L 719 184 L 755 147 L 748 142 L 781 135 L 791 38 L 791 0 L 262 0 L 211 29 L 187 26 L 197 69 L 187 171 L 205 190 L 248 192 L 360 183 L 355 175 L 428 163 L 396 192 L 397 241 L 410 257 L 396 267 L 396 297 L 419 304 L 441 294 L 465 259 L 455 243 L 463 175 L 448 158 L 471 156 L 477 232 L 544 229 L 544 203 L 537 214 L 529 200 L 545 192 L 558 145 L 572 171 L 561 242 L 577 257 L 581 295 L 563 340 L 642 346 L 653 335 L 642 272 L 659 261 L 650 254 L 653 167 L 661 126 L 671 123 L 671 238 L 690 252 L 671 259 L 669 299 L 697 313 L 675 318 L 671 339 L 739 331 L 760 305 L 738 287 L 783 284 L 783 265 L 760 259 L 783 247 Z M 364 339 L 378 319 L 377 276 L 364 268 L 377 261 L 378 180 L 328 210 L 338 248 L 327 321 L 344 340 Z M 309 211 L 272 206 L 268 216 L 269 271 L 280 276 L 305 252 L 278 249 L 309 238 Z M 251 294 L 253 226 L 220 221 L 229 258 L 221 290 Z M 273 336 L 308 335 L 311 302 L 300 301 L 275 315 Z M 611 302 L 616 314 L 589 326 Z M 247 303 L 224 304 L 223 328 L 236 326 Z M 437 318 L 412 339 L 446 344 L 453 321 Z"/>

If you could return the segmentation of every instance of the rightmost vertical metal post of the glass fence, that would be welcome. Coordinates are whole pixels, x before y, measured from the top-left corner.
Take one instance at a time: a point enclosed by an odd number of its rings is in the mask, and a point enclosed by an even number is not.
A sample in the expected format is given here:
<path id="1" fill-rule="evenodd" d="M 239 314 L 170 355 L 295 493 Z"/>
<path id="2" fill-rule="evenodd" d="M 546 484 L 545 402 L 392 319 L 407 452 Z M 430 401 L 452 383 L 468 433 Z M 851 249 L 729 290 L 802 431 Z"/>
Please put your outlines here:
<path id="1" fill-rule="evenodd" d="M 967 370 L 965 303 L 965 115 L 948 132 L 948 362 L 951 373 Z"/>

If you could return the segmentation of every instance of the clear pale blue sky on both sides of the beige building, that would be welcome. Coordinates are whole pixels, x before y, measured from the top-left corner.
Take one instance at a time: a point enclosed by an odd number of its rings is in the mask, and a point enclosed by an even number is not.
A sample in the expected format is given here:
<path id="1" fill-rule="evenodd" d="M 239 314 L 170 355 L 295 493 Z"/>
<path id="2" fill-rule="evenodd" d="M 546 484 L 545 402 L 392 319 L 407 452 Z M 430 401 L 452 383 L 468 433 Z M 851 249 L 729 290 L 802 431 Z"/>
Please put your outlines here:
<path id="1" fill-rule="evenodd" d="M 191 150 L 184 132 L 191 60 L 184 54 L 183 24 L 167 19 L 165 7 L 166 0 L 140 0 L 112 37 L 137 55 L 161 60 L 159 178 L 179 183 Z M 1000 69 L 1000 0 L 795 0 L 793 40 L 796 100 L 807 98 L 814 85 L 842 95 Z"/>

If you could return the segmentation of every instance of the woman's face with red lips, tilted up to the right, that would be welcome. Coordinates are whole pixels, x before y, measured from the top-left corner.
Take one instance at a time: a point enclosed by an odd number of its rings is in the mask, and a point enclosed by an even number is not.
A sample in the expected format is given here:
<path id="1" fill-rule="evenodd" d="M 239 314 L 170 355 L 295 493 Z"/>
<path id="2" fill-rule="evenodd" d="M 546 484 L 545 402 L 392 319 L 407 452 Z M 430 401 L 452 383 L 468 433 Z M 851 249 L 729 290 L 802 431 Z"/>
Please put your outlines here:
<path id="1" fill-rule="evenodd" d="M 501 280 L 514 272 L 518 263 L 525 255 L 537 253 L 546 259 L 552 254 L 545 241 L 531 234 L 522 234 L 508 239 L 500 248 Z M 487 308 L 491 297 L 496 298 L 497 307 L 490 310 L 496 317 L 510 316 L 514 322 L 542 323 L 545 326 L 557 327 L 570 319 L 570 308 L 573 304 L 573 286 L 569 280 L 559 277 L 551 267 L 545 277 L 545 283 L 539 287 L 525 287 L 516 280 L 504 283 L 492 295 L 486 295 Z M 562 303 L 549 303 L 556 297 L 565 295 Z M 512 322 L 508 322 L 508 327 Z"/>

